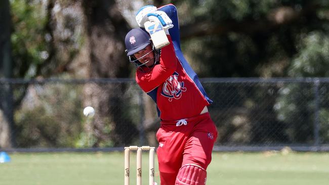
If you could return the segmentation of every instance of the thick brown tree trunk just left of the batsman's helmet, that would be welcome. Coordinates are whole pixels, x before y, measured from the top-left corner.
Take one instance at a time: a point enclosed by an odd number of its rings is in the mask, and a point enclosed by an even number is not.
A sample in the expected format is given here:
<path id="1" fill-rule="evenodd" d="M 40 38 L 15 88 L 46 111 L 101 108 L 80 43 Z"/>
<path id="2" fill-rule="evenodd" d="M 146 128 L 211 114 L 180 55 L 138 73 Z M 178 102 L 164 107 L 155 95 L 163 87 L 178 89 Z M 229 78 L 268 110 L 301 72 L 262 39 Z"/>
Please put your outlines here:
<path id="1" fill-rule="evenodd" d="M 129 77 L 129 62 L 125 55 L 124 39 L 130 27 L 122 17 L 114 0 L 84 1 L 87 17 L 87 35 L 90 47 L 91 78 Z M 136 125 L 127 116 L 128 100 L 118 95 L 126 84 L 101 83 L 86 87 L 85 105 L 93 106 L 97 114 L 92 123 L 97 141 L 93 147 L 102 146 L 110 139 L 112 146 L 122 146 L 132 141 L 138 133 Z M 110 128 L 110 130 L 108 129 Z"/>

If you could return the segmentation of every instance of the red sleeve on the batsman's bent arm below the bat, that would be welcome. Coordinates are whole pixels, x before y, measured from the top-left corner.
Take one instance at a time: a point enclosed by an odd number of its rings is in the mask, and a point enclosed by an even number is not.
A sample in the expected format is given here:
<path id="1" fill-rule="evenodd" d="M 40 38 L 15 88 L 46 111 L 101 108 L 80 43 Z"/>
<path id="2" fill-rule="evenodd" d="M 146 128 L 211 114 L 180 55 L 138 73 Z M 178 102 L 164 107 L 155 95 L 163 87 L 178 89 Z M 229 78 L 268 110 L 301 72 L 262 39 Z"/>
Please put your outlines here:
<path id="1" fill-rule="evenodd" d="M 170 44 L 161 48 L 160 64 L 155 65 L 149 72 L 136 72 L 136 81 L 145 92 L 165 82 L 176 70 L 178 59 L 170 35 L 167 37 Z"/>

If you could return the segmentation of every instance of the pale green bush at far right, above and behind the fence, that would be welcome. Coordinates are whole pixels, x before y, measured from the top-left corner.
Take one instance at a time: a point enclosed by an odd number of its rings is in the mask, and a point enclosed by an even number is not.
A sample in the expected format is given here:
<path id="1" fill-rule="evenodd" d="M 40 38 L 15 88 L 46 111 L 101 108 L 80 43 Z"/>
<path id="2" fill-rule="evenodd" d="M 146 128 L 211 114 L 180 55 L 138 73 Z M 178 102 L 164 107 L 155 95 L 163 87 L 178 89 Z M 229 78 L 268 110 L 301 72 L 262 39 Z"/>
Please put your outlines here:
<path id="1" fill-rule="evenodd" d="M 312 31 L 301 38 L 300 53 L 295 56 L 289 67 L 291 77 L 328 77 L 329 37 L 323 31 Z M 321 128 L 320 138 L 328 142 L 328 85 L 315 80 L 312 86 L 305 84 L 287 85 L 280 89 L 281 96 L 275 107 L 279 119 L 294 128 L 303 128 L 299 133 L 292 133 L 299 137 L 299 141 L 307 139 L 306 132 L 313 130 L 315 124 Z M 300 104 L 303 102 L 303 104 Z M 311 115 L 308 119 L 301 119 L 301 115 Z M 310 123 L 314 123 L 313 125 Z M 316 142 L 316 141 L 314 141 Z"/>

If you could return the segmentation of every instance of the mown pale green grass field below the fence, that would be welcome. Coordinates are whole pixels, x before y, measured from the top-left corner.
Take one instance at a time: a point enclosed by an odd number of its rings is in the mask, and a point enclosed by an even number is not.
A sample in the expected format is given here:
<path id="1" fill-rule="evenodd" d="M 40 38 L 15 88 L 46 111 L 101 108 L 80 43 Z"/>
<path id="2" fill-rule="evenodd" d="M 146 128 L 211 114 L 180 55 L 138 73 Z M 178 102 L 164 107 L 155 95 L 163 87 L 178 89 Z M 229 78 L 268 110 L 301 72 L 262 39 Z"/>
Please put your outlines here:
<path id="1" fill-rule="evenodd" d="M 10 153 L 0 163 L 1 185 L 123 184 L 123 153 Z M 143 155 L 143 184 L 148 156 Z M 157 162 L 156 162 L 157 163 Z M 136 156 L 131 155 L 131 184 L 136 184 Z M 157 169 L 157 166 L 156 166 Z M 155 179 L 159 182 L 158 172 Z M 329 153 L 213 153 L 208 185 L 329 184 Z"/>

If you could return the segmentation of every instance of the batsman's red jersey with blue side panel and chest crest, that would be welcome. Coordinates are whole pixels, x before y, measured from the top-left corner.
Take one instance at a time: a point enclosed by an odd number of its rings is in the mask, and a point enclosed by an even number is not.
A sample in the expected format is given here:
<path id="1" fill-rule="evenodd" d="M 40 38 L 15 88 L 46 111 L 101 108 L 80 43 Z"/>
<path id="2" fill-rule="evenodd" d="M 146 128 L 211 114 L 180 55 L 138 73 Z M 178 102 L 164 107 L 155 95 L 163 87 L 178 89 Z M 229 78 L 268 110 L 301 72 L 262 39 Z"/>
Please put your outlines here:
<path id="1" fill-rule="evenodd" d="M 203 93 L 203 88 L 195 78 L 194 71 L 189 76 L 182 62 L 176 56 L 170 35 L 170 44 L 161 49 L 160 62 L 149 72 L 136 72 L 139 86 L 154 100 L 158 116 L 163 121 L 191 118 L 200 114 L 211 100 Z M 185 64 L 186 66 L 186 64 Z M 195 82 L 197 80 L 197 82 Z"/>

